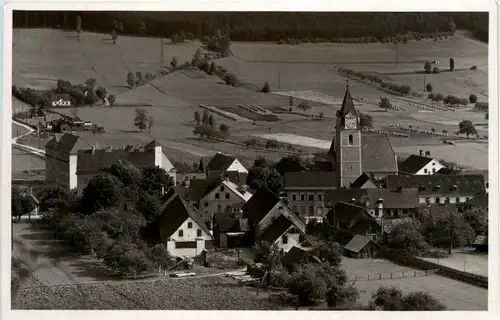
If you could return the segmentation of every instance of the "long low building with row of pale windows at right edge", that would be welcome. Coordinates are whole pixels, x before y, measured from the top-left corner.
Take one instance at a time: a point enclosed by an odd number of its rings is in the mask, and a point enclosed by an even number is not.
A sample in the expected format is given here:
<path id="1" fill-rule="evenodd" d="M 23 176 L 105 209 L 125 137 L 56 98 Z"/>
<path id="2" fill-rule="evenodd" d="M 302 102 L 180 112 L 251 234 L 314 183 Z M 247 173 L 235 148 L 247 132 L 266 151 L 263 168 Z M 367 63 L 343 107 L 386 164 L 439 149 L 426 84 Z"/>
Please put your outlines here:
<path id="1" fill-rule="evenodd" d="M 465 203 L 485 193 L 482 175 L 389 175 L 387 188 L 416 189 L 420 203 Z"/>

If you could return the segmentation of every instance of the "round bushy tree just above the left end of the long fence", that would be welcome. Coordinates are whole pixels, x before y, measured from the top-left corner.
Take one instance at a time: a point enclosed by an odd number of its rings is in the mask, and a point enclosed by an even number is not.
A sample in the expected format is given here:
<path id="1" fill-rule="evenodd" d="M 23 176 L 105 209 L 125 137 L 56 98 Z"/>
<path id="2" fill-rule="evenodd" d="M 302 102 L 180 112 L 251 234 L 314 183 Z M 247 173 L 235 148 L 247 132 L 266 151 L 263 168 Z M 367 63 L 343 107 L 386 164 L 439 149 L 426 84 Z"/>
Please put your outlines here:
<path id="1" fill-rule="evenodd" d="M 429 249 L 414 222 L 396 225 L 387 237 L 387 245 L 407 255 L 418 255 Z"/>

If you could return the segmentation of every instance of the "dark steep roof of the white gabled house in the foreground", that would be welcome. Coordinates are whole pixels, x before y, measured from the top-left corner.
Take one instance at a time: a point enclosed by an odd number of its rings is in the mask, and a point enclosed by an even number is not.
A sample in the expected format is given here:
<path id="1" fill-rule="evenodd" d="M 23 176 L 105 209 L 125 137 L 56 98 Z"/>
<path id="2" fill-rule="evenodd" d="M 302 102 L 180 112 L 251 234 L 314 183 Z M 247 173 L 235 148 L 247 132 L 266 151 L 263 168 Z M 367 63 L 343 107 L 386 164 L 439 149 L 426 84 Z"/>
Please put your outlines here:
<path id="1" fill-rule="evenodd" d="M 178 195 L 173 197 L 160 216 L 161 237 L 164 240 L 170 238 L 188 218 L 191 218 L 207 235 L 211 235 L 198 210 Z"/>

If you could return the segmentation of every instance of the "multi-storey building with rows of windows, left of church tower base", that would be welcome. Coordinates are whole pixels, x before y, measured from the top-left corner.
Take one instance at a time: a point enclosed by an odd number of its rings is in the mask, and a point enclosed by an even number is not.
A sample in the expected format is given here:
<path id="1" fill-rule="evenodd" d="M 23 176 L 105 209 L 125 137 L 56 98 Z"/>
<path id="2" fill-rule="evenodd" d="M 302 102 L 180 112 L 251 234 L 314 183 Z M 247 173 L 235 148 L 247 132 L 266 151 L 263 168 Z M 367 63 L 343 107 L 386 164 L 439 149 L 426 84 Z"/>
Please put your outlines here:
<path id="1" fill-rule="evenodd" d="M 322 221 L 326 214 L 324 195 L 337 188 L 336 179 L 335 172 L 286 172 L 283 189 L 292 211 L 306 222 Z"/>

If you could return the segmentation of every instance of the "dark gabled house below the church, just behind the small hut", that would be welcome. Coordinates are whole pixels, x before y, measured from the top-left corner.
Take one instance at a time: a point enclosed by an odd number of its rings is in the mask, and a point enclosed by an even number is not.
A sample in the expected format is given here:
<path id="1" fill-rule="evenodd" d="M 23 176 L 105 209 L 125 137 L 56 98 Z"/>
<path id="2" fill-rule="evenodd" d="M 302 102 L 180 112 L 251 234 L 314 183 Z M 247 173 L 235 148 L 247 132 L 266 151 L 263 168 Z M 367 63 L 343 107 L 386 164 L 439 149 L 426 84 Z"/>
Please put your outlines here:
<path id="1" fill-rule="evenodd" d="M 337 202 L 327 213 L 328 221 L 337 229 L 350 231 L 358 235 L 376 237 L 381 227 L 366 208 L 355 203 Z"/>

